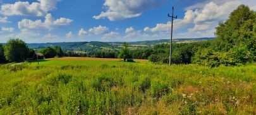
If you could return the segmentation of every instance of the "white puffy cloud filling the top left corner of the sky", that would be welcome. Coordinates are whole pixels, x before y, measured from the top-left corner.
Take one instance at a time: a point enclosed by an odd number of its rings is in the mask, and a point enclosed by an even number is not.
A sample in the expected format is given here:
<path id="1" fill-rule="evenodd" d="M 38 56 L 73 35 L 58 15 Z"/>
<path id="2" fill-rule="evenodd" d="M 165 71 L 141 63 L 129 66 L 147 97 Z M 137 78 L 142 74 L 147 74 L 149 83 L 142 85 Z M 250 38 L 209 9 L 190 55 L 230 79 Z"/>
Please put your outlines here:
<path id="1" fill-rule="evenodd" d="M 17 1 L 14 4 L 3 4 L 0 13 L 6 16 L 44 16 L 52 9 L 56 9 L 56 5 L 60 0 L 38 0 L 39 2 L 28 3 L 28 1 Z"/>

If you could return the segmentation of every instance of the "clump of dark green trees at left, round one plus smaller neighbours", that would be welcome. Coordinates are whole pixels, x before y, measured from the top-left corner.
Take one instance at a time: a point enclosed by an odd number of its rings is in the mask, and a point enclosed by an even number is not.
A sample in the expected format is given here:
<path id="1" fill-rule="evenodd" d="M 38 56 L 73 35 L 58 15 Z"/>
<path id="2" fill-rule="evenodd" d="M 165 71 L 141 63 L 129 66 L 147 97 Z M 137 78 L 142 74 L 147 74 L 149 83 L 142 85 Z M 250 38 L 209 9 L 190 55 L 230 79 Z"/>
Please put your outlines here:
<path id="1" fill-rule="evenodd" d="M 63 57 L 64 52 L 60 46 L 46 47 L 40 49 L 39 53 L 44 58 Z M 40 57 L 42 58 L 42 57 Z M 34 49 L 30 49 L 25 42 L 20 39 L 10 39 L 5 46 L 0 44 L 0 63 L 20 63 L 28 59 L 37 59 Z"/>

